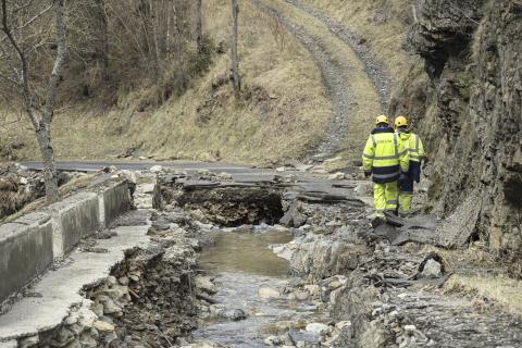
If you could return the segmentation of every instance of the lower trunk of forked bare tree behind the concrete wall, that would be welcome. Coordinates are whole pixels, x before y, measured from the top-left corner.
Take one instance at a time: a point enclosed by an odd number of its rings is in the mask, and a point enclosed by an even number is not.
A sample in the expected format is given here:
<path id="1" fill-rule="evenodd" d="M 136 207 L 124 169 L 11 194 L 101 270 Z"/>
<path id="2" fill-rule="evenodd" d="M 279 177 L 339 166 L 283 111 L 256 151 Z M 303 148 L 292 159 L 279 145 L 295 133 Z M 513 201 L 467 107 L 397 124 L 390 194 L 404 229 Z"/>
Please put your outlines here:
<path id="1" fill-rule="evenodd" d="M 51 146 L 51 132 L 49 125 L 41 126 L 36 132 L 41 159 L 44 161 L 44 181 L 46 183 L 46 197 L 48 203 L 54 203 L 60 199 L 58 190 L 58 174 L 54 166 L 54 151 Z"/>

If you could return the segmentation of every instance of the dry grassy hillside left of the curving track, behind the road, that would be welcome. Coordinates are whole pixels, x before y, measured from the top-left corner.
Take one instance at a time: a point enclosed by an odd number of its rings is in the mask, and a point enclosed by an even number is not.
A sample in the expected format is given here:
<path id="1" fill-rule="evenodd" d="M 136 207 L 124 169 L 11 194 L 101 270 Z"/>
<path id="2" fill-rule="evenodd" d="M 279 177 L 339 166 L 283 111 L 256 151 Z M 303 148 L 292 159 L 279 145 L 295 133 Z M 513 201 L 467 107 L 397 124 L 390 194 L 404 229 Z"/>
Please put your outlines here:
<path id="1" fill-rule="evenodd" d="M 229 1 L 203 3 L 206 51 L 197 55 L 186 29 L 183 80 L 178 66 L 166 65 L 154 77 L 146 65 L 135 72 L 114 59 L 110 70 L 122 71 L 112 84 L 102 84 L 92 67 L 78 75 L 80 69 L 70 65 L 52 125 L 58 159 L 146 156 L 266 163 L 301 157 L 318 144 L 331 107 L 310 53 L 276 20 L 241 2 L 244 88 L 236 102 L 228 76 Z M 37 159 L 25 115 L 12 108 L 3 115 L 2 156 Z"/>

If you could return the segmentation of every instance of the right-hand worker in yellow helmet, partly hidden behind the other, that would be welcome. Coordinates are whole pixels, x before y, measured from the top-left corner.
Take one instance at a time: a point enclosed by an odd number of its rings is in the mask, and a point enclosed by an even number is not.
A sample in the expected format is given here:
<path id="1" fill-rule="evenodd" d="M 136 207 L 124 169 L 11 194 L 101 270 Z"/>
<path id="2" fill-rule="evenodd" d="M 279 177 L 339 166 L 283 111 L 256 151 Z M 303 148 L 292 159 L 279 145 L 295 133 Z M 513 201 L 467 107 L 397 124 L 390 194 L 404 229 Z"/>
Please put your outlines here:
<path id="1" fill-rule="evenodd" d="M 395 119 L 395 129 L 410 154 L 410 170 L 408 177 L 399 183 L 399 214 L 411 212 L 413 200 L 413 182 L 421 181 L 421 162 L 425 158 L 424 146 L 419 135 L 411 133 L 408 120 L 405 116 Z"/>

